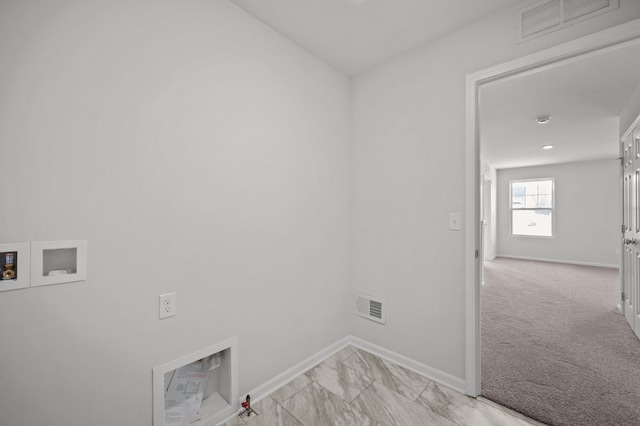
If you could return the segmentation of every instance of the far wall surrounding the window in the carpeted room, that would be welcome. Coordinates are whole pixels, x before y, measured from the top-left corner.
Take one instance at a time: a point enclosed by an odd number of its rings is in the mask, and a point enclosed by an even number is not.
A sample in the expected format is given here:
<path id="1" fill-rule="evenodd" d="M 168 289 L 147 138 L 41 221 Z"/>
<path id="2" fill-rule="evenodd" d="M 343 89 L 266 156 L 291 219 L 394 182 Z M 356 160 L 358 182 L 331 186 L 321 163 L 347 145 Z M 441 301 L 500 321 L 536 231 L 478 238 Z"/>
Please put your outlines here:
<path id="1" fill-rule="evenodd" d="M 509 181 L 537 178 L 554 178 L 554 236 L 513 236 Z M 619 185 L 615 159 L 498 170 L 498 256 L 618 266 Z"/>

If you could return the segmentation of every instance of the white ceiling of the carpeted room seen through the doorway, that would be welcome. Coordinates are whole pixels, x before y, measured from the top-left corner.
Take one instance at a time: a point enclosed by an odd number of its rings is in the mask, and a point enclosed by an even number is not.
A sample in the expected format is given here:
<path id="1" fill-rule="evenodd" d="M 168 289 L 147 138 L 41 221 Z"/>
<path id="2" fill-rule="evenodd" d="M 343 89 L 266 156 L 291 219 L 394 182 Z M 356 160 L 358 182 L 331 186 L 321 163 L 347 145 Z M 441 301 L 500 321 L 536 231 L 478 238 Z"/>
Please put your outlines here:
<path id="1" fill-rule="evenodd" d="M 496 168 L 615 159 L 618 117 L 640 84 L 640 43 L 485 85 L 481 149 Z M 551 115 L 548 124 L 535 122 Z M 552 144 L 545 151 L 542 145 Z"/>

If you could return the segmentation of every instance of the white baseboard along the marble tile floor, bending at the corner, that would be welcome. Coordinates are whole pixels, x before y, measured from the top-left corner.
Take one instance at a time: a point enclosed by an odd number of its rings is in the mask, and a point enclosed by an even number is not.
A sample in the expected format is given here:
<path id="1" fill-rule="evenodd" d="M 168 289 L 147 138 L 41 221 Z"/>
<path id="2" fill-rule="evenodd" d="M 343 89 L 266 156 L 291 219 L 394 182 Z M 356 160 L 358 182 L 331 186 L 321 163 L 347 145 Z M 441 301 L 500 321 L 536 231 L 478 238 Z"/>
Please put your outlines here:
<path id="1" fill-rule="evenodd" d="M 346 336 L 337 342 L 327 346 L 326 348 L 320 350 L 319 352 L 311 355 L 309 358 L 299 362 L 288 370 L 283 371 L 278 374 L 274 378 L 266 381 L 260 386 L 252 389 L 248 392 L 251 395 L 251 402 L 255 403 L 260 401 L 261 399 L 269 396 L 276 390 L 280 389 L 285 384 L 289 383 L 291 380 L 295 379 L 299 375 L 305 373 L 311 368 L 315 367 L 334 353 L 340 351 L 348 345 L 353 345 L 360 349 L 363 349 L 367 352 L 370 352 L 374 355 L 379 356 L 380 358 L 387 359 L 389 361 L 395 362 L 396 364 L 411 370 L 415 373 L 418 373 L 426 378 L 433 380 L 434 382 L 440 383 L 444 386 L 449 387 L 455 391 L 460 393 L 465 393 L 465 381 L 458 377 L 454 377 L 448 373 L 440 371 L 436 368 L 430 367 L 426 364 L 422 364 L 416 360 L 413 360 L 404 355 L 400 355 L 399 353 L 393 352 L 389 349 L 383 348 L 382 346 L 375 345 L 373 343 L 367 342 L 366 340 L 359 339 L 353 336 Z M 246 395 L 240 396 L 240 406 L 245 401 Z M 223 422 L 219 423 L 219 425 L 224 424 L 225 422 L 230 421 L 235 416 L 237 416 L 242 409 L 238 411 L 238 413 L 233 416 L 228 417 Z"/>

